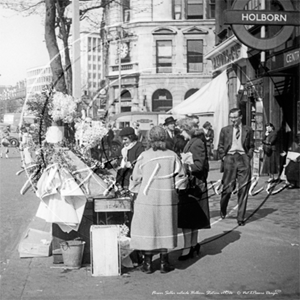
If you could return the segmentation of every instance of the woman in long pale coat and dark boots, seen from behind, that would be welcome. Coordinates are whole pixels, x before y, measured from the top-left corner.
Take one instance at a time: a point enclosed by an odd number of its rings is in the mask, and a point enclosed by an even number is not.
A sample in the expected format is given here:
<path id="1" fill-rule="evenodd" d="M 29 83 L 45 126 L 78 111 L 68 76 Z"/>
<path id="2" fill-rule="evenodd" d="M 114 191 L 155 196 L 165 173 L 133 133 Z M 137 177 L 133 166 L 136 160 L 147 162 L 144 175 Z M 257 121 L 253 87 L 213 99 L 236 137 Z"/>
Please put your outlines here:
<path id="1" fill-rule="evenodd" d="M 160 272 L 174 270 L 169 263 L 168 249 L 177 246 L 176 189 L 185 187 L 185 171 L 177 154 L 166 148 L 167 134 L 154 126 L 149 132 L 150 148 L 138 158 L 130 190 L 137 192 L 131 223 L 132 249 L 143 251 L 141 270 L 152 273 L 152 257 L 160 253 Z"/>

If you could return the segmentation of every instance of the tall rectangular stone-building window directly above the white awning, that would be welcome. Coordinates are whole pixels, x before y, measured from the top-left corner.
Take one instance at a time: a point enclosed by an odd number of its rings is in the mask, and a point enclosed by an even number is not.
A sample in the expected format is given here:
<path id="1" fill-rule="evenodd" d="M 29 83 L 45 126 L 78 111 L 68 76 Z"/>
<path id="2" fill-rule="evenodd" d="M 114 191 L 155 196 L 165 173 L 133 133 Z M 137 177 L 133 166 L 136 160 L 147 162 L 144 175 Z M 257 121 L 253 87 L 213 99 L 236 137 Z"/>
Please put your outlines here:
<path id="1" fill-rule="evenodd" d="M 187 72 L 203 71 L 203 40 L 187 40 Z"/>

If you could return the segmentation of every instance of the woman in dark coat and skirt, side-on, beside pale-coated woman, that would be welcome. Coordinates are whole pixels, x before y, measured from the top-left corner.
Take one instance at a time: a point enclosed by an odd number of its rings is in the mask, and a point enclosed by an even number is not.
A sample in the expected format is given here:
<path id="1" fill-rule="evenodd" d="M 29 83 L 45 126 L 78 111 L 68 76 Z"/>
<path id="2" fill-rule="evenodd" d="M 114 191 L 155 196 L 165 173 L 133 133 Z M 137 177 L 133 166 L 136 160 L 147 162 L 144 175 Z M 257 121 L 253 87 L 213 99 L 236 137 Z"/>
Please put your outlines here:
<path id="1" fill-rule="evenodd" d="M 184 249 L 178 260 L 187 260 L 200 252 L 198 230 L 210 228 L 206 181 L 209 164 L 202 129 L 190 118 L 179 120 L 178 126 L 188 141 L 182 159 L 189 175 L 189 187 L 179 194 L 178 227 L 183 231 Z"/>

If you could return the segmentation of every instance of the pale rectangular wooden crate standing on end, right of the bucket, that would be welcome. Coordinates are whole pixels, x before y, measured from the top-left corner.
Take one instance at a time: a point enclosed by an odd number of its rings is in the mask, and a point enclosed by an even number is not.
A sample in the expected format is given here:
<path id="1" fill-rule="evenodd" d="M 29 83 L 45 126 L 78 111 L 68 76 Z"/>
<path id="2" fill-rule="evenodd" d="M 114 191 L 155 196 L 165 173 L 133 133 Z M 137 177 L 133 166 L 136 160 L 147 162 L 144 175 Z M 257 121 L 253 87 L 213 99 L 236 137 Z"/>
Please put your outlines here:
<path id="1" fill-rule="evenodd" d="M 93 225 L 90 230 L 92 276 L 121 274 L 118 225 Z"/>

